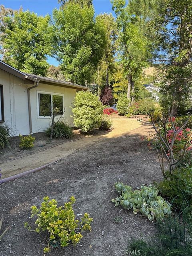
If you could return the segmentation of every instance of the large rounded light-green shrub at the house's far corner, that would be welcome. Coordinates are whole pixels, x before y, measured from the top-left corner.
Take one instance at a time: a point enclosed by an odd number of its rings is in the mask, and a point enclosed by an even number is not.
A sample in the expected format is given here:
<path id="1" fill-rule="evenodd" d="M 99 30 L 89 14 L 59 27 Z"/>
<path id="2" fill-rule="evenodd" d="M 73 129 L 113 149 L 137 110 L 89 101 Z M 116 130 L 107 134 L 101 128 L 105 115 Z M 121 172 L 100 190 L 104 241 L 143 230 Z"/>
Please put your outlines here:
<path id="1" fill-rule="evenodd" d="M 91 92 L 77 92 L 72 108 L 74 125 L 82 132 L 90 132 L 101 126 L 103 105 Z"/>

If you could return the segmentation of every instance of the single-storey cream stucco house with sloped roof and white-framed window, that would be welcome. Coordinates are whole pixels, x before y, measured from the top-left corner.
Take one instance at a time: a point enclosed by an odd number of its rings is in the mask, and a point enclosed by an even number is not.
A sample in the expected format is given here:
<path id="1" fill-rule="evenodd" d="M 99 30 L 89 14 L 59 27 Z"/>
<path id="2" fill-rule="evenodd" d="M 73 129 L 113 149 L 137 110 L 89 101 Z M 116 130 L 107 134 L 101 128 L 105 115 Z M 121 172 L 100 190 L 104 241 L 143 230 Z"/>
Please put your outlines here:
<path id="1" fill-rule="evenodd" d="M 61 118 L 73 126 L 70 106 L 79 90 L 88 87 L 20 72 L 0 60 L 0 125 L 6 123 L 13 136 L 42 132 L 54 102 L 65 108 Z"/>

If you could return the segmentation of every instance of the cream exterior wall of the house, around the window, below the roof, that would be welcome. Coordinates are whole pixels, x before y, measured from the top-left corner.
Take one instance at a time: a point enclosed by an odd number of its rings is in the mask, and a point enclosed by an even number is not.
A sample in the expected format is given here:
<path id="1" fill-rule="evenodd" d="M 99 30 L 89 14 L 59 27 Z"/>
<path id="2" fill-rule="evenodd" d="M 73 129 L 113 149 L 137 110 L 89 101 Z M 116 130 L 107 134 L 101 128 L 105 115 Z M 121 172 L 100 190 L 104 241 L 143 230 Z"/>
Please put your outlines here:
<path id="1" fill-rule="evenodd" d="M 22 79 L 4 70 L 0 70 L 0 84 L 3 85 L 5 123 L 12 128 L 13 136 L 29 134 L 27 89 L 32 84 L 26 85 Z M 30 90 L 33 133 L 44 131 L 51 122 L 50 117 L 38 118 L 38 92 L 62 94 L 66 111 L 61 119 L 73 126 L 70 106 L 72 106 L 76 89 L 39 83 L 38 87 Z"/>

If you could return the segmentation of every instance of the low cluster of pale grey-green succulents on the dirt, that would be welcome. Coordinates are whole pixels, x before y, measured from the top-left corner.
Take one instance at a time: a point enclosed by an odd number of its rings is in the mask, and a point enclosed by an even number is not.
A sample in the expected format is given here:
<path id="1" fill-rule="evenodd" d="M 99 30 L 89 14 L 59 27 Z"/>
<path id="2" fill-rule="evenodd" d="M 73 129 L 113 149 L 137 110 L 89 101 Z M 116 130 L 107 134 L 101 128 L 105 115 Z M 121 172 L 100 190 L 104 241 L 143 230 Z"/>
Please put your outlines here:
<path id="1" fill-rule="evenodd" d="M 170 203 L 158 196 L 158 189 L 152 185 L 142 185 L 140 190 L 133 191 L 131 186 L 117 182 L 115 188 L 120 194 L 119 197 L 112 199 L 115 206 L 133 209 L 134 214 L 141 213 L 149 220 L 162 219 L 171 213 Z"/>

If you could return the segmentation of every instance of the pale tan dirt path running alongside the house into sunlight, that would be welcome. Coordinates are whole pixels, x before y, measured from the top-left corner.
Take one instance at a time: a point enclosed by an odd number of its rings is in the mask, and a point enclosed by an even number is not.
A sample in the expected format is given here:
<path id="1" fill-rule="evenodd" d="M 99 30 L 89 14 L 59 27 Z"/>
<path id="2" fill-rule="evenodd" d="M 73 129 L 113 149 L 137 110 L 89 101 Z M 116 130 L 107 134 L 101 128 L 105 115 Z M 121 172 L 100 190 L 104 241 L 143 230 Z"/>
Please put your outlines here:
<path id="1" fill-rule="evenodd" d="M 34 154 L 23 156 L 22 158 L 3 162 L 2 164 L 0 164 L 0 168 L 2 169 L 2 178 L 7 178 L 21 172 L 44 166 L 45 164 L 66 157 L 75 152 L 76 150 L 91 146 L 104 140 L 105 138 L 114 138 L 116 136 L 121 136 L 129 130 L 138 128 L 140 126 L 140 123 L 137 122 L 136 119 L 128 119 L 122 117 L 113 118 L 112 120 L 114 130 L 109 133 L 103 135 L 88 136 L 81 138 L 80 140 L 65 142 L 58 146 L 54 146 L 54 148 L 48 148 L 41 152 L 36 152 Z"/>

